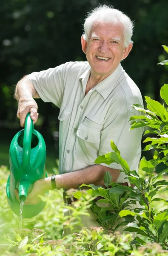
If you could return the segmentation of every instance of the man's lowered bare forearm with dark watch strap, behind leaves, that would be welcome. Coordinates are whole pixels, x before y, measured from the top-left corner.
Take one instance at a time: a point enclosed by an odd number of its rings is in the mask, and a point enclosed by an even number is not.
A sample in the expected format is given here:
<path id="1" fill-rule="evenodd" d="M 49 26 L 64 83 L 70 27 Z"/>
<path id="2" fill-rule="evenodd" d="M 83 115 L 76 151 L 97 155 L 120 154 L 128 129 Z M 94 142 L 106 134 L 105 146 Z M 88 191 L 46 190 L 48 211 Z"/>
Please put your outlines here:
<path id="1" fill-rule="evenodd" d="M 76 172 L 57 175 L 55 176 L 55 182 L 57 188 L 63 189 L 77 189 L 78 186 L 82 185 L 83 183 L 86 185 L 94 184 L 104 186 L 104 175 L 106 171 L 111 173 L 112 180 L 116 182 L 120 175 L 120 170 L 102 165 L 94 165 Z M 51 189 L 51 177 L 48 177 L 45 180 L 47 188 Z"/>

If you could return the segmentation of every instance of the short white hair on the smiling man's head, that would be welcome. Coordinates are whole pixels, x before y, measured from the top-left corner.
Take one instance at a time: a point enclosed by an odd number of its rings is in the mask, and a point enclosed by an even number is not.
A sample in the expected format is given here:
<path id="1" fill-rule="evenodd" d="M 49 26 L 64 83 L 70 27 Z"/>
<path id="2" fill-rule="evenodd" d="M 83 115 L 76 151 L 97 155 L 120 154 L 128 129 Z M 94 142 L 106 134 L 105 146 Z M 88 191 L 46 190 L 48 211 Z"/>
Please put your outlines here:
<path id="1" fill-rule="evenodd" d="M 122 24 L 124 27 L 124 46 L 133 43 L 131 37 L 133 35 L 134 23 L 123 12 L 114 9 L 113 6 L 100 5 L 94 8 L 85 18 L 83 38 L 88 40 L 93 25 L 98 23 Z"/>

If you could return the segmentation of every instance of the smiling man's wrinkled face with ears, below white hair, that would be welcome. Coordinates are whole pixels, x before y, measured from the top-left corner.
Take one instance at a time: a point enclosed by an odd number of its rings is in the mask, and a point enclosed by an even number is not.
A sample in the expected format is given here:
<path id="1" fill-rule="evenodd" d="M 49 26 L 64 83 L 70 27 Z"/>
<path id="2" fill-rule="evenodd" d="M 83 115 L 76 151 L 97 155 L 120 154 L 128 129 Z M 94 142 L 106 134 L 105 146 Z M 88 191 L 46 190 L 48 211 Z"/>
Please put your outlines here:
<path id="1" fill-rule="evenodd" d="M 88 40 L 81 38 L 82 49 L 91 66 L 92 76 L 105 79 L 118 67 L 132 49 L 124 47 L 122 24 L 99 23 L 91 29 Z"/>

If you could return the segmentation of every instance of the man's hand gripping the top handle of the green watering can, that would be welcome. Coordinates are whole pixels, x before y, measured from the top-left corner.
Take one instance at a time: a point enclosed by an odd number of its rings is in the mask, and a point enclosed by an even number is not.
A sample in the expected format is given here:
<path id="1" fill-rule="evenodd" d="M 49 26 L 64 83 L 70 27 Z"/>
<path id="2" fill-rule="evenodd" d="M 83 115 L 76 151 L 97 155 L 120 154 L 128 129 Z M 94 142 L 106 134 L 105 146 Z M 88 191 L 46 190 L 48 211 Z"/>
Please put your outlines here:
<path id="1" fill-rule="evenodd" d="M 30 113 L 31 119 L 33 120 L 33 124 L 35 122 L 37 122 L 37 118 L 38 118 L 38 113 L 37 113 L 37 103 L 35 102 L 35 100 L 32 99 L 20 99 L 18 102 L 18 110 L 17 110 L 17 118 L 20 119 L 20 125 L 22 127 L 25 126 L 25 119 L 26 119 L 26 115 L 27 113 Z"/>

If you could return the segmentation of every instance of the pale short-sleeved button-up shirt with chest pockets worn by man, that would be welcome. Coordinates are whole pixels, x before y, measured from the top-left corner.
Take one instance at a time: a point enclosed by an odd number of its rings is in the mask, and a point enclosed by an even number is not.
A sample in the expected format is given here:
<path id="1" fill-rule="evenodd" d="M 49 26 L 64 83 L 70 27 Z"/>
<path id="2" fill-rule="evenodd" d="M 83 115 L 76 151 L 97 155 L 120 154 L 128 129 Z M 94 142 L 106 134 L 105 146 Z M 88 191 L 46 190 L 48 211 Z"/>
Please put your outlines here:
<path id="1" fill-rule="evenodd" d="M 129 119 L 140 113 L 131 105 L 143 105 L 137 85 L 121 64 L 85 95 L 91 67 L 87 61 L 67 62 L 34 72 L 29 79 L 44 102 L 60 108 L 60 174 L 94 165 L 99 156 L 117 145 L 131 170 L 137 170 L 141 156 L 142 128 L 130 130 Z M 122 169 L 117 163 L 108 166 Z M 117 182 L 123 182 L 120 173 Z"/>

